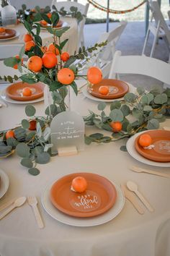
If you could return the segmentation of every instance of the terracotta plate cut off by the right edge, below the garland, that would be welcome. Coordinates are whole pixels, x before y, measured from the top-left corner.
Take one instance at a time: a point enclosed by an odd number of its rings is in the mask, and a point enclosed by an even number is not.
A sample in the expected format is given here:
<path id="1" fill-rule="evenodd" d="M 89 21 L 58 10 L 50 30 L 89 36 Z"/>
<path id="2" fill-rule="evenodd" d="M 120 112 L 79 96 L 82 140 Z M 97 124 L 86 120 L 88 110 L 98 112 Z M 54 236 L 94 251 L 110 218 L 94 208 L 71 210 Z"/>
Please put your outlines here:
<path id="1" fill-rule="evenodd" d="M 155 162 L 170 162 L 170 131 L 152 130 L 143 134 L 151 136 L 153 148 L 141 147 L 139 145 L 140 136 L 138 136 L 135 139 L 135 149 L 138 153 Z"/>

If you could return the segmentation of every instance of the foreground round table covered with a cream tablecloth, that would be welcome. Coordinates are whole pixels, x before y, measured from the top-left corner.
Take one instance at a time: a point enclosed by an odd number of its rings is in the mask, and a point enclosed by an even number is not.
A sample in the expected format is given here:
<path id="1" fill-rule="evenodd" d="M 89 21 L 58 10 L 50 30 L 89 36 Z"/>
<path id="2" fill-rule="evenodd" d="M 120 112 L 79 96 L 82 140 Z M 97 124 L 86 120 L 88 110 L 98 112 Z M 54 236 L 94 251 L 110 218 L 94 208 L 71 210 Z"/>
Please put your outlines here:
<path id="1" fill-rule="evenodd" d="M 4 68 L 6 69 L 6 68 Z M 81 87 L 86 81 L 77 81 Z M 1 90 L 6 85 L 0 85 Z M 11 129 L 17 127 L 27 116 L 24 112 L 26 104 L 6 102 L 0 108 L 0 127 Z M 36 115 L 42 116 L 45 110 L 43 101 L 33 103 Z M 89 114 L 89 110 L 97 112 L 97 101 L 86 98 L 83 93 L 74 95 L 71 89 L 71 111 L 81 116 Z M 109 103 L 107 109 L 109 111 Z M 162 127 L 170 127 L 167 119 Z M 85 128 L 86 135 L 102 132 L 95 127 Z M 109 132 L 104 132 L 109 135 Z M 9 177 L 9 189 L 0 199 L 0 208 L 6 202 L 17 197 L 35 196 L 44 228 L 39 229 L 32 208 L 25 202 L 20 208 L 13 210 L 0 221 L 0 255 L 1 256 L 169 256 L 170 255 L 170 179 L 146 173 L 131 171 L 132 166 L 169 174 L 169 167 L 149 166 L 133 158 L 128 152 L 120 150 L 128 139 L 110 143 L 91 143 L 77 155 L 54 156 L 47 164 L 38 165 L 40 174 L 32 176 L 19 162 L 15 153 L 0 160 L 0 169 Z M 170 166 L 170 163 L 169 163 Z M 47 187 L 56 180 L 73 173 L 87 172 L 99 174 L 120 184 L 133 181 L 153 207 L 153 212 L 136 197 L 143 214 L 133 207 L 132 203 L 122 200 L 122 208 L 115 218 L 97 224 L 84 225 L 84 218 L 79 219 L 82 225 L 76 226 L 58 221 L 45 210 L 43 196 Z M 123 195 L 123 194 L 122 194 Z M 134 195 L 135 196 L 135 195 Z M 124 198 L 124 197 L 123 197 Z M 47 197 L 49 201 L 49 198 Z M 54 209 L 56 210 L 56 209 Z M 57 210 L 56 210 L 57 211 Z M 62 213 L 64 216 L 65 214 Z M 74 223 L 75 217 L 70 217 Z M 86 220 L 85 220 L 86 221 Z M 64 223 L 65 222 L 65 223 Z M 69 225 L 68 225 L 69 224 Z"/>

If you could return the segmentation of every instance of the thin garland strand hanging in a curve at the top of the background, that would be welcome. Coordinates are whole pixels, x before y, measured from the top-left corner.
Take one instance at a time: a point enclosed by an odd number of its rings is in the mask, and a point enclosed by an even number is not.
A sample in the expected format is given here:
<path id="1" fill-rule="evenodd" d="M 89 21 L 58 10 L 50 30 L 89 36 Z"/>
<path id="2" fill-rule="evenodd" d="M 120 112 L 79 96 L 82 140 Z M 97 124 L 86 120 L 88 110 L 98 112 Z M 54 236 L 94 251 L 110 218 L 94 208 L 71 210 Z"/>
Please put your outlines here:
<path id="1" fill-rule="evenodd" d="M 113 9 L 107 9 L 107 7 L 103 7 L 101 4 L 98 4 L 97 1 L 94 1 L 94 0 L 87 0 L 87 1 L 89 1 L 89 4 L 92 4 L 94 7 L 96 7 L 99 10 L 101 10 L 103 12 L 113 13 L 113 14 L 125 14 L 127 12 L 133 12 L 135 9 L 138 9 L 143 4 L 146 3 L 146 0 L 144 0 L 140 4 L 138 4 L 136 7 L 133 7 L 132 9 L 117 11 L 117 10 L 113 10 Z"/>

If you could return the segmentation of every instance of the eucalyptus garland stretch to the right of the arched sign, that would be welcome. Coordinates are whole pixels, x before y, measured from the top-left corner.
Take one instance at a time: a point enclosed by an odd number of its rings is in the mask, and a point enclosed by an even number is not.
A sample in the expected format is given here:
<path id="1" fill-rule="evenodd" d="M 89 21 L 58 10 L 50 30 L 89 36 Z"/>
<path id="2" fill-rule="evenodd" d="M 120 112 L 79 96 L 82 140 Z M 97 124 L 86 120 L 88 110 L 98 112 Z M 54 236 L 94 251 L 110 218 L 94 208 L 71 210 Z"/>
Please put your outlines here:
<path id="1" fill-rule="evenodd" d="M 97 107 L 101 113 L 89 111 L 84 121 L 86 125 L 111 132 L 111 136 L 104 136 L 102 133 L 86 135 L 87 145 L 91 142 L 113 142 L 147 129 L 158 129 L 161 122 L 170 118 L 170 88 L 155 86 L 150 92 L 137 88 L 136 94 L 127 93 L 122 101 L 113 101 L 109 114 L 104 111 L 106 106 L 104 102 L 99 103 Z M 111 124 L 114 122 L 121 123 L 122 129 L 119 132 L 112 129 Z"/>

